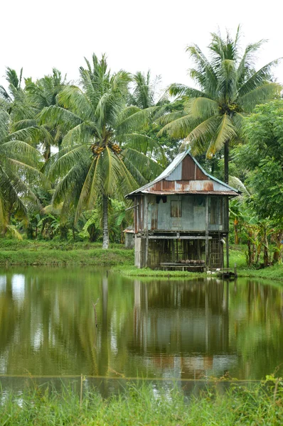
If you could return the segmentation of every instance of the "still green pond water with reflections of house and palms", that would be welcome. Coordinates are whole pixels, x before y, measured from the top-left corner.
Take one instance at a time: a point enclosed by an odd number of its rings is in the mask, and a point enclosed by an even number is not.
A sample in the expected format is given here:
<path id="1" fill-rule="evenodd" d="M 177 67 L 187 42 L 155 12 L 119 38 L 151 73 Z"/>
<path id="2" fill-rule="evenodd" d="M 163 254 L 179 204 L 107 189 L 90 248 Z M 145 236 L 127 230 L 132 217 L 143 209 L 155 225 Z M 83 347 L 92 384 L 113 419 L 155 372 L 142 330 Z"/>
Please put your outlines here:
<path id="1" fill-rule="evenodd" d="M 261 379 L 282 363 L 279 286 L 0 269 L 1 375 Z"/>

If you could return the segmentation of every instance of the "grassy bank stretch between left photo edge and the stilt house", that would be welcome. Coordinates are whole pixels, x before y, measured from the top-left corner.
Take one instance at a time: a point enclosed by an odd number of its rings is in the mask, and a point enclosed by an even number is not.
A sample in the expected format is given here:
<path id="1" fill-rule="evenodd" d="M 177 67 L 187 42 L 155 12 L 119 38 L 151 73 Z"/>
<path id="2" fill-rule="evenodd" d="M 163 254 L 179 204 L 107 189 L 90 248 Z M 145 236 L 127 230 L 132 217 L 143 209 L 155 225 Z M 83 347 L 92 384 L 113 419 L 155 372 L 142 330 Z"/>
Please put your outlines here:
<path id="1" fill-rule="evenodd" d="M 134 251 L 121 244 L 112 244 L 102 250 L 98 243 L 70 243 L 61 241 L 0 240 L 0 265 L 132 265 Z"/>

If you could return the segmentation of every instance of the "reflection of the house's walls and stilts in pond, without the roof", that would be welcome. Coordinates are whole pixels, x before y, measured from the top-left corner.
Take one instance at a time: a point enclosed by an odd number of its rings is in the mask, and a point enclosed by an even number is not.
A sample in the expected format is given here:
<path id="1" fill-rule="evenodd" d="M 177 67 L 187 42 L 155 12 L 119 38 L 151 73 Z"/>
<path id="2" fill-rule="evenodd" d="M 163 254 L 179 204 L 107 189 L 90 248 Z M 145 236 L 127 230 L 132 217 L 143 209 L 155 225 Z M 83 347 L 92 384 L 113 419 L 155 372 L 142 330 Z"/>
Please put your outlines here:
<path id="1" fill-rule="evenodd" d="M 135 342 L 171 353 L 228 351 L 228 283 L 135 284 Z M 142 348 L 139 350 L 142 351 Z"/>

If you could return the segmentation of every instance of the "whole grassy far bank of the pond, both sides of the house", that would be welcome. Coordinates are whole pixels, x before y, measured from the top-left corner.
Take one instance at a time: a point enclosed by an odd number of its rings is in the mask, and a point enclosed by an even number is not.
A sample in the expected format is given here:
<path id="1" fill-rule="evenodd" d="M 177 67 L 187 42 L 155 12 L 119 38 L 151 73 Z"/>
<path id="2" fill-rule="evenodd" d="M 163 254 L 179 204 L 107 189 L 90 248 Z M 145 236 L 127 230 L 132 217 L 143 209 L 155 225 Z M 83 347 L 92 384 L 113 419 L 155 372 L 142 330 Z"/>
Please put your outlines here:
<path id="1" fill-rule="evenodd" d="M 237 264 L 240 277 L 283 281 L 283 266 L 271 266 L 256 270 L 247 268 L 245 246 L 230 249 L 230 266 Z M 125 249 L 122 244 L 110 244 L 110 249 L 102 250 L 101 243 L 87 241 L 18 241 L 0 239 L 1 266 L 114 266 L 114 271 L 132 277 L 156 278 L 196 278 L 203 273 L 186 271 L 152 271 L 134 267 L 134 250 Z"/>

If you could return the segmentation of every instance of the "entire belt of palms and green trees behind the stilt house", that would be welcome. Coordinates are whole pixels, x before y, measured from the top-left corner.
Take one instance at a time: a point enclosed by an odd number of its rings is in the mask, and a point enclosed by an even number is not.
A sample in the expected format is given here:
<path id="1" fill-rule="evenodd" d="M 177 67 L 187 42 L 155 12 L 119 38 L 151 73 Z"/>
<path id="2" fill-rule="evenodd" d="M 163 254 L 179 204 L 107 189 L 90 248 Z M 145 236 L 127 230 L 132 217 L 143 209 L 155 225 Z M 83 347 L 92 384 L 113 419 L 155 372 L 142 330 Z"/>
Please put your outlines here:
<path id="1" fill-rule="evenodd" d="M 247 244 L 250 264 L 267 245 L 269 261 L 280 261 L 283 101 L 267 103 L 279 97 L 271 74 L 278 61 L 256 71 L 264 40 L 243 53 L 239 40 L 240 28 L 234 39 L 212 33 L 208 58 L 188 46 L 196 88 L 171 84 L 173 102 L 159 94 L 160 77 L 112 74 L 105 55 L 80 67 L 79 86 L 55 68 L 33 81 L 8 67 L 0 87 L 0 233 L 122 242 L 132 223 L 124 195 L 159 175 L 181 140 L 220 180 L 228 180 L 229 143 L 229 182 L 245 193 L 244 203 L 232 204 L 230 229 Z"/>

